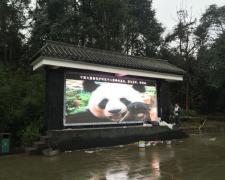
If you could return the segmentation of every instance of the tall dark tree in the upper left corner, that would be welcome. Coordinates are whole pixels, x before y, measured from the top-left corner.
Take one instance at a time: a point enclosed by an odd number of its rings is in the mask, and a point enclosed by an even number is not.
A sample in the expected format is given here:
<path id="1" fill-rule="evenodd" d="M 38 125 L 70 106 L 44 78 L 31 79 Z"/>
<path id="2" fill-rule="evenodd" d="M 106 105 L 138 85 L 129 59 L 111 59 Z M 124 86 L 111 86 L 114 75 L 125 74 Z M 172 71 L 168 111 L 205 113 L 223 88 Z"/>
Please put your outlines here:
<path id="1" fill-rule="evenodd" d="M 0 1 L 0 63 L 22 63 L 29 0 Z"/>

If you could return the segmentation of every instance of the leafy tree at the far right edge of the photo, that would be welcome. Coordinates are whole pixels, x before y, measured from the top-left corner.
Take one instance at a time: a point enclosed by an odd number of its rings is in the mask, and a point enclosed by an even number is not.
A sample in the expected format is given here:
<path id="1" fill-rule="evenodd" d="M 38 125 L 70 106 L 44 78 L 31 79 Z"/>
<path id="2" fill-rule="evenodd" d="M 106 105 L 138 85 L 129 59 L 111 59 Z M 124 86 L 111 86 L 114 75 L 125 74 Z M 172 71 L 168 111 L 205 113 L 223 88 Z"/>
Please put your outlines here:
<path id="1" fill-rule="evenodd" d="M 221 88 L 225 83 L 225 6 L 211 5 L 196 28 L 202 43 L 198 60 L 209 86 Z"/>

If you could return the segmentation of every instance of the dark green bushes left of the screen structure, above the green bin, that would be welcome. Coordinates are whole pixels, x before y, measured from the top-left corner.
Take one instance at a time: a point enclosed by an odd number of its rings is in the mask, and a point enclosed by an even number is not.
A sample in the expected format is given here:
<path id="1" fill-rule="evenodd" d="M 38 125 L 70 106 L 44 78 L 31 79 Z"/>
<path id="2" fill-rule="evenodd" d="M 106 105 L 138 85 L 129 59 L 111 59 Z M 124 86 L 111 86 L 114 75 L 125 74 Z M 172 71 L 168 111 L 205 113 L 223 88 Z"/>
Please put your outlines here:
<path id="1" fill-rule="evenodd" d="M 0 96 L 0 132 L 11 132 L 19 140 L 19 132 L 43 119 L 43 75 L 0 65 Z"/>

